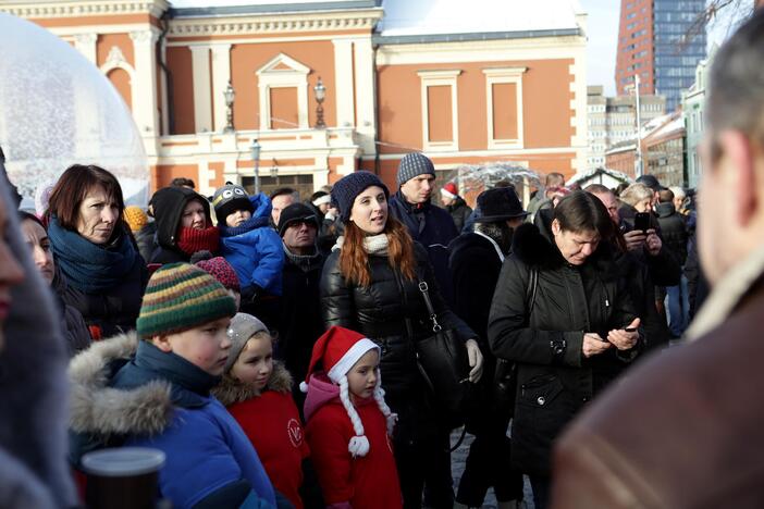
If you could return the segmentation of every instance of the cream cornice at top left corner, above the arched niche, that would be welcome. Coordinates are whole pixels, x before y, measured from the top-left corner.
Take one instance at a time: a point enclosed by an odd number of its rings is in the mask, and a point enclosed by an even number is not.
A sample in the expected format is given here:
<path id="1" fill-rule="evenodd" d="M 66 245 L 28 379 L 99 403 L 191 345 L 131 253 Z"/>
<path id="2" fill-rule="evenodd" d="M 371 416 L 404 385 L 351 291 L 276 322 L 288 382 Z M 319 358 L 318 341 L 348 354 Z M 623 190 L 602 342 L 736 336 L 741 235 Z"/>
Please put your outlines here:
<path id="1" fill-rule="evenodd" d="M 60 18 L 82 16 L 113 16 L 124 14 L 151 14 L 161 17 L 170 8 L 167 0 L 63 0 L 26 2 L 11 1 L 0 7 L 0 12 L 24 18 Z"/>

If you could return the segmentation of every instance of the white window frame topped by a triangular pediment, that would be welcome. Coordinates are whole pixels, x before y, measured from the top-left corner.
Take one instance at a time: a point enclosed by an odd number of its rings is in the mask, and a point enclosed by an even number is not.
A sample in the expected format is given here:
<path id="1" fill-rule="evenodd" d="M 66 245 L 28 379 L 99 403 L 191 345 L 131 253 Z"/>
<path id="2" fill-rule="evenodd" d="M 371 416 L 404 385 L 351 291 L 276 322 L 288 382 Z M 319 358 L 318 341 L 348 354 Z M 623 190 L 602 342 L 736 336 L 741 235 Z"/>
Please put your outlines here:
<path id="1" fill-rule="evenodd" d="M 281 64 L 288 69 L 275 69 Z M 260 131 L 271 129 L 271 88 L 297 88 L 297 126 L 308 128 L 308 74 L 310 67 L 292 57 L 279 53 L 257 72 L 257 86 L 260 94 Z M 263 114 L 264 113 L 264 114 Z M 282 129 L 278 129 L 282 131 Z"/>

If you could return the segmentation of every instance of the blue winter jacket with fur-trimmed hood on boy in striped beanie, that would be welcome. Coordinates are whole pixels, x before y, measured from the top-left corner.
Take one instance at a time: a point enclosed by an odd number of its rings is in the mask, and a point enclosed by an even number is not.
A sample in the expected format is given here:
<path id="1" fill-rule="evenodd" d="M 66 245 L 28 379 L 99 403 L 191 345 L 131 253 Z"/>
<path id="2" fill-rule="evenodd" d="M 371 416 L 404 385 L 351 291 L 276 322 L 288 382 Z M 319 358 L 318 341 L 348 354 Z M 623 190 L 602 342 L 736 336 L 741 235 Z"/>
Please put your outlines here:
<path id="1" fill-rule="evenodd" d="M 75 464 L 87 449 L 151 447 L 165 455 L 159 491 L 174 508 L 276 507 L 251 442 L 209 393 L 220 377 L 135 333 L 94 344 L 70 376 Z"/>

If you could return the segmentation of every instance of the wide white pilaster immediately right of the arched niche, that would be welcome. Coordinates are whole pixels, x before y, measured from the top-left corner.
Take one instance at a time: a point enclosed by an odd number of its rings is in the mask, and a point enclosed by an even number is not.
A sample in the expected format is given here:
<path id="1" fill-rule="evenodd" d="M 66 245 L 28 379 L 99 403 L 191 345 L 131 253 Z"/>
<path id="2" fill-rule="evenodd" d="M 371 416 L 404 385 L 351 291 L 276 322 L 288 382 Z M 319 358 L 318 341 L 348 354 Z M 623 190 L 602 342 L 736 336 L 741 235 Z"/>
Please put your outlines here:
<path id="1" fill-rule="evenodd" d="M 133 116 L 143 137 L 159 135 L 157 103 L 157 52 L 159 34 L 156 29 L 131 32 L 135 53 L 133 80 Z M 155 150 L 156 152 L 156 150 Z"/>

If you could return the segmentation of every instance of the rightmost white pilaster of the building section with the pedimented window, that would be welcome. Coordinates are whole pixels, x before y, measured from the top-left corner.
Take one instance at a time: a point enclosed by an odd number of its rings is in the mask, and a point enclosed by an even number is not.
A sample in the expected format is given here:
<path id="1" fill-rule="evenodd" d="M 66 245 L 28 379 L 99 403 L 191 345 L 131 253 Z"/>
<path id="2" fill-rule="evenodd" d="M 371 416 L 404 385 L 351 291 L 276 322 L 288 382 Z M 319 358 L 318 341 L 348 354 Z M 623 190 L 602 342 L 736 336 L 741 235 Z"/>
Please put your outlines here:
<path id="1" fill-rule="evenodd" d="M 371 37 L 354 40 L 354 57 L 356 63 L 356 126 L 360 135 L 360 146 L 367 154 L 375 153 L 374 127 L 374 52 L 371 48 Z"/>

